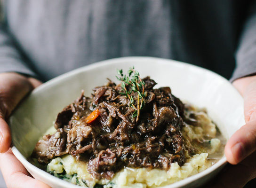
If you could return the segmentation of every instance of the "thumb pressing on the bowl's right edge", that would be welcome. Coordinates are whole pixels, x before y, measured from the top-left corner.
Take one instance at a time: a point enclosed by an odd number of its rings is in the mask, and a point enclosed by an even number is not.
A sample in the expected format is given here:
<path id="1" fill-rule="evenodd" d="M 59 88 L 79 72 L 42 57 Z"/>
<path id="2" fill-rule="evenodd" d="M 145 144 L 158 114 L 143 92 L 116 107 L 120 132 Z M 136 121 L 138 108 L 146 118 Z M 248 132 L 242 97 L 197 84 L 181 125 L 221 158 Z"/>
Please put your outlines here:
<path id="1" fill-rule="evenodd" d="M 238 164 L 256 150 L 256 121 L 242 126 L 228 140 L 225 146 L 227 161 Z"/>

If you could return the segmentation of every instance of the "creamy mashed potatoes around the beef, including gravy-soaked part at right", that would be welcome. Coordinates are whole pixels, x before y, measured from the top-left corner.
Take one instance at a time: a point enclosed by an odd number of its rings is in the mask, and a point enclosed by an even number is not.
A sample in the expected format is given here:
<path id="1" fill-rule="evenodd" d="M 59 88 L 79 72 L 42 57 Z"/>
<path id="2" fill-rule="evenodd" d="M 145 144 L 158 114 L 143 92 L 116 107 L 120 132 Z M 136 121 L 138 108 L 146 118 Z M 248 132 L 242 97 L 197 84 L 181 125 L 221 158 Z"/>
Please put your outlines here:
<path id="1" fill-rule="evenodd" d="M 77 161 L 71 155 L 65 155 L 53 159 L 48 164 L 47 171 L 56 177 L 89 188 L 93 188 L 96 184 L 104 185 L 104 188 L 156 188 L 183 180 L 214 164 L 216 160 L 209 160 L 208 156 L 219 151 L 222 145 L 221 141 L 216 138 L 216 125 L 212 123 L 208 115 L 202 110 L 195 108 L 192 110 L 199 125 L 186 124 L 183 127 L 182 133 L 185 141 L 193 143 L 203 137 L 211 139 L 207 147 L 195 146 L 200 151 L 199 154 L 192 157 L 187 155 L 187 160 L 182 166 L 172 163 L 168 171 L 125 167 L 117 172 L 112 180 L 97 180 L 88 173 L 87 164 Z"/>

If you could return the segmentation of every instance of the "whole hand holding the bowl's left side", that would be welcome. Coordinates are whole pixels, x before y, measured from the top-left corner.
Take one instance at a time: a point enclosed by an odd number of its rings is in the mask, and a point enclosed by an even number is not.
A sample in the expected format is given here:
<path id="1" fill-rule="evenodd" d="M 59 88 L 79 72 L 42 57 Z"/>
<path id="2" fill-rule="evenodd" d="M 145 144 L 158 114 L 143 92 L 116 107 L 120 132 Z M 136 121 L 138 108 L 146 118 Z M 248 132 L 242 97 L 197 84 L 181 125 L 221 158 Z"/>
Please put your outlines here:
<path id="1" fill-rule="evenodd" d="M 17 104 L 40 84 L 35 78 L 17 73 L 0 73 L 0 169 L 8 188 L 49 188 L 33 179 L 13 155 L 10 128 L 6 123 Z"/>

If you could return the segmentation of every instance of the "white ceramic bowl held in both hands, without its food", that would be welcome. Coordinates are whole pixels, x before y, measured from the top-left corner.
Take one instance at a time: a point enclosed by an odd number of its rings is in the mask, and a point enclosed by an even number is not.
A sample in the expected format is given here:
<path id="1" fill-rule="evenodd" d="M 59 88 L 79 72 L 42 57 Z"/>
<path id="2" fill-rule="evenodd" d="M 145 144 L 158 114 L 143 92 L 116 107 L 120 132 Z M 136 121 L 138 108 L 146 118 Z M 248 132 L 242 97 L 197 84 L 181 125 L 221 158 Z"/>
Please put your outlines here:
<path id="1" fill-rule="evenodd" d="M 226 139 L 244 124 L 243 99 L 228 80 L 214 72 L 173 60 L 153 57 L 123 57 L 94 63 L 65 73 L 36 88 L 18 106 L 10 118 L 12 151 L 28 172 L 52 188 L 78 188 L 31 164 L 27 157 L 46 130 L 53 125 L 64 106 L 80 96 L 82 89 L 90 95 L 92 88 L 104 85 L 106 78 L 116 81 L 117 69 L 125 72 L 135 65 L 142 77 L 150 75 L 158 85 L 170 86 L 181 100 L 206 107 Z M 196 187 L 216 175 L 226 164 L 223 157 L 207 170 L 165 188 Z"/>

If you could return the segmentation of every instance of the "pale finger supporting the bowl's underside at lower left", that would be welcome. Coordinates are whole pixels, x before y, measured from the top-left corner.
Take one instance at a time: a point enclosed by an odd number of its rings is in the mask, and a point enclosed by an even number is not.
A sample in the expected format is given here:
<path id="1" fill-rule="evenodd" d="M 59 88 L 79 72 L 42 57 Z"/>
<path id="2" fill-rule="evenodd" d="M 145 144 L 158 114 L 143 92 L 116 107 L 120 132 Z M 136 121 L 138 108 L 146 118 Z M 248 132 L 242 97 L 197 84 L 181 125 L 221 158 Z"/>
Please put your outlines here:
<path id="1" fill-rule="evenodd" d="M 50 188 L 43 182 L 30 177 L 10 149 L 0 154 L 0 169 L 8 188 Z"/>

